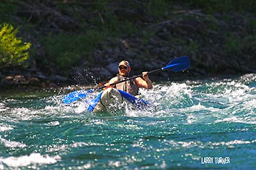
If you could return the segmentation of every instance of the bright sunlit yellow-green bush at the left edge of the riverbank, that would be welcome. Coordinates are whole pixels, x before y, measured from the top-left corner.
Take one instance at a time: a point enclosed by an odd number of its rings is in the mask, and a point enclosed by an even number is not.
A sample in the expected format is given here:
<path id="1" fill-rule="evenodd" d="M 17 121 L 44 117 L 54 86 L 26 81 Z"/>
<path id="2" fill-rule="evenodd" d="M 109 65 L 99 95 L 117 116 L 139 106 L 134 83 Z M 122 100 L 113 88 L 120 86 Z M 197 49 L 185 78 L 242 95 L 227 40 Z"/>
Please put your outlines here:
<path id="1" fill-rule="evenodd" d="M 21 65 L 29 58 L 31 43 L 23 42 L 16 34 L 11 24 L 0 25 L 0 67 Z"/>

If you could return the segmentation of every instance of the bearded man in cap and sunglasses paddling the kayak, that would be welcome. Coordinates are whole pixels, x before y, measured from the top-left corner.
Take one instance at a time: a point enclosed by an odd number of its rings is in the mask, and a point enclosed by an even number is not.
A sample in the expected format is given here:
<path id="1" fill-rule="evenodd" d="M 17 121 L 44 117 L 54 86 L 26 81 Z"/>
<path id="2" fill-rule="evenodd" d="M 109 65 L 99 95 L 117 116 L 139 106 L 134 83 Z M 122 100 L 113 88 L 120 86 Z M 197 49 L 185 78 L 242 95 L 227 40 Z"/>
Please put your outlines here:
<path id="1" fill-rule="evenodd" d="M 152 89 L 152 81 L 148 77 L 148 72 L 142 72 L 142 78 L 137 77 L 135 79 L 130 79 L 128 81 L 124 81 L 122 83 L 117 83 L 124 79 L 128 79 L 130 76 L 131 67 L 129 62 L 123 60 L 118 64 L 118 74 L 116 77 L 110 79 L 108 83 L 106 83 L 106 88 L 114 87 L 116 89 L 120 89 L 122 91 L 126 91 L 130 93 L 130 95 L 134 95 L 137 98 L 140 98 L 139 88 L 143 87 L 145 89 Z M 116 85 L 110 86 L 112 83 L 117 83 Z"/>

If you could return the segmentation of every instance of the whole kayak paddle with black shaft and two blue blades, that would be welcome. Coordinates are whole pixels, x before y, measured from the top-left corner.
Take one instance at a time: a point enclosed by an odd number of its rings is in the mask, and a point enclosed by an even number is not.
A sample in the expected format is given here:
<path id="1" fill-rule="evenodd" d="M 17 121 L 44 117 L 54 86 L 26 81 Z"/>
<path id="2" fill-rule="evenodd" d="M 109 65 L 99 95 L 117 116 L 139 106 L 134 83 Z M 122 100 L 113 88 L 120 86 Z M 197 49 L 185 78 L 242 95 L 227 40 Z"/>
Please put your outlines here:
<path id="1" fill-rule="evenodd" d="M 188 58 L 188 56 L 182 56 L 180 58 L 176 58 L 176 59 L 172 60 L 171 62 L 169 62 L 168 65 L 166 65 L 166 67 L 162 67 L 160 69 L 156 69 L 153 71 L 148 71 L 148 74 L 156 73 L 159 71 L 164 71 L 166 69 L 170 69 L 171 71 L 177 72 L 177 71 L 182 71 L 183 69 L 187 69 L 188 67 L 190 67 L 190 58 Z M 124 79 L 124 80 L 118 81 L 116 83 L 111 83 L 110 85 L 116 85 L 118 83 L 122 83 L 124 81 L 129 81 L 130 79 L 136 79 L 137 77 L 141 77 L 141 76 L 142 76 L 142 74 L 136 75 L 134 77 L 130 77 L 128 79 Z M 88 95 L 88 93 L 92 93 L 96 90 L 103 89 L 105 87 L 106 87 L 106 85 L 104 85 L 102 87 L 98 87 L 96 89 L 90 89 L 87 91 L 86 90 L 73 91 L 63 97 L 63 103 L 66 103 L 66 104 L 72 103 L 73 101 L 76 101 L 78 99 L 85 98 Z"/>

